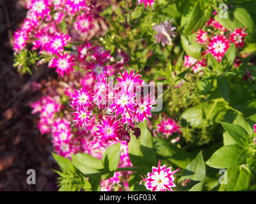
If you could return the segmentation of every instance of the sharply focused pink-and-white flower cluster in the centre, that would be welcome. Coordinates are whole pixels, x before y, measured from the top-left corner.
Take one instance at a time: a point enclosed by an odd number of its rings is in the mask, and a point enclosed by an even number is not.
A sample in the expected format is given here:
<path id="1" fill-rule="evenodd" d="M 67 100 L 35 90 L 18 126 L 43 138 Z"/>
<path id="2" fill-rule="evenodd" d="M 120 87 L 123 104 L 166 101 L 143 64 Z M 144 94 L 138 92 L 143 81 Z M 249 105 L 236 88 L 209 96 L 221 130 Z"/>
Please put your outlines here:
<path id="1" fill-rule="evenodd" d="M 148 120 L 152 115 L 150 110 L 156 104 L 155 97 L 143 92 L 148 86 L 133 70 L 128 73 L 125 69 L 120 73 L 115 85 L 105 74 L 96 78 L 93 88 L 82 87 L 72 94 L 70 105 L 75 110 L 74 123 L 88 129 L 90 122 L 97 120 L 95 133 L 99 140 L 129 141 L 127 129 Z"/>

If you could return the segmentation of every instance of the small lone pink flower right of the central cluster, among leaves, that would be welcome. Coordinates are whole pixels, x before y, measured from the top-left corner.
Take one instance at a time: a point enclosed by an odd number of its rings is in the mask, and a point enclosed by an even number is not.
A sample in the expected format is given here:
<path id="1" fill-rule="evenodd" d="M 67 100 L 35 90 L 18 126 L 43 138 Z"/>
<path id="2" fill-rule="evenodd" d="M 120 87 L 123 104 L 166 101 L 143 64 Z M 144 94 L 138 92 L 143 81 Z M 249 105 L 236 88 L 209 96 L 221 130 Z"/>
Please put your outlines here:
<path id="1" fill-rule="evenodd" d="M 180 126 L 178 126 L 178 123 L 170 118 L 163 119 L 161 123 L 157 125 L 157 131 L 163 133 L 166 137 L 172 135 L 172 133 L 181 133 L 179 129 Z"/>

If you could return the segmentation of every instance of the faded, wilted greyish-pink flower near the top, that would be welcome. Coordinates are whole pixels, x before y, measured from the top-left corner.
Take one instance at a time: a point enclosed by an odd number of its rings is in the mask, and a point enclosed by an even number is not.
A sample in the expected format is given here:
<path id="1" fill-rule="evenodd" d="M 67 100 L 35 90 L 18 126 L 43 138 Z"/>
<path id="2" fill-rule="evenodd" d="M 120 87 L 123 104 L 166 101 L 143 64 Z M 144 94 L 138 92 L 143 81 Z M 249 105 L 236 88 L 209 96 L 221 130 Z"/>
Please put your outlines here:
<path id="1" fill-rule="evenodd" d="M 157 31 L 155 36 L 157 43 L 162 43 L 162 45 L 171 45 L 172 38 L 175 36 L 174 30 L 176 27 L 172 26 L 173 20 L 165 20 L 160 25 L 155 25 L 153 29 Z"/>

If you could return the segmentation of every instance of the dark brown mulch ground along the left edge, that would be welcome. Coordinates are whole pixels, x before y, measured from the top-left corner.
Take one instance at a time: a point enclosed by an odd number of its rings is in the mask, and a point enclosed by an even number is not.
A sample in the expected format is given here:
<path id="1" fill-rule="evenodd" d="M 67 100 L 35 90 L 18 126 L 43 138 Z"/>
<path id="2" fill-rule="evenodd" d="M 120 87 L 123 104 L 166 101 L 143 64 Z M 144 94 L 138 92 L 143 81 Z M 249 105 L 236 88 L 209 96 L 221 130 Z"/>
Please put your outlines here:
<path id="1" fill-rule="evenodd" d="M 0 191 L 56 191 L 51 141 L 40 135 L 28 105 L 40 96 L 31 83 L 47 75 L 21 75 L 12 66 L 10 38 L 25 16 L 19 1 L 0 0 Z M 36 171 L 35 185 L 26 182 L 28 169 Z"/>

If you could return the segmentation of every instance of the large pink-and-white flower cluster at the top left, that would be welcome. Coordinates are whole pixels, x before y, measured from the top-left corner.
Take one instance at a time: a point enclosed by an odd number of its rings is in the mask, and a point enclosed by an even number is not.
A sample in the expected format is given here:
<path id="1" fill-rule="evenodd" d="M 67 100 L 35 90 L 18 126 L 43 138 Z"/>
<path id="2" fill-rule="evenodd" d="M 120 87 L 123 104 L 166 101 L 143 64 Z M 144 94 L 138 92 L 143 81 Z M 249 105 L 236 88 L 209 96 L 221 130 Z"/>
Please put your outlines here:
<path id="1" fill-rule="evenodd" d="M 116 57 L 88 41 L 106 29 L 102 26 L 97 1 L 29 0 L 28 15 L 13 36 L 15 54 L 22 50 L 37 52 L 40 61 L 55 68 L 60 77 L 74 73 L 77 67 L 85 73 L 114 75 L 129 57 L 116 50 Z"/>

